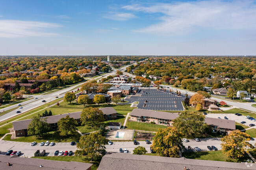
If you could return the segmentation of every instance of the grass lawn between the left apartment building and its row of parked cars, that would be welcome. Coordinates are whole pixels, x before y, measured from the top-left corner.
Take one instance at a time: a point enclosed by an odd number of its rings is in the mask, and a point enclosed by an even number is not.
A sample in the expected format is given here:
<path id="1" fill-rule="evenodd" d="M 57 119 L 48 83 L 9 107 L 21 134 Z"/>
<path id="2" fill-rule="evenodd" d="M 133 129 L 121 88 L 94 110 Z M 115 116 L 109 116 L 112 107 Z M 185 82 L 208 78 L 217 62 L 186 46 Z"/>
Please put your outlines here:
<path id="1" fill-rule="evenodd" d="M 73 136 L 60 136 L 58 132 L 48 132 L 42 137 L 35 137 L 35 136 L 27 136 L 27 137 L 18 137 L 16 139 L 10 139 L 11 134 L 6 135 L 4 137 L 5 141 L 16 141 L 16 142 L 33 142 L 36 141 L 37 143 L 45 142 L 45 141 L 54 141 L 54 142 L 72 142 L 77 141 L 80 139 L 81 135 L 79 133 L 76 133 L 76 135 Z"/>

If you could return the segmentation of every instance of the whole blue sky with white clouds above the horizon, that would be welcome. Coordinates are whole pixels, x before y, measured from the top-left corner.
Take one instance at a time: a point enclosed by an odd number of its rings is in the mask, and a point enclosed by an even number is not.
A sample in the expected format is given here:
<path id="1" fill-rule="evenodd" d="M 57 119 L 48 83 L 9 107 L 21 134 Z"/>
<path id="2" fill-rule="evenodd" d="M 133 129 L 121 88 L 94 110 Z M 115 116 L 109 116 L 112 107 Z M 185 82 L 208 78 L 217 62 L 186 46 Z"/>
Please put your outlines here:
<path id="1" fill-rule="evenodd" d="M 0 0 L 0 55 L 256 55 L 256 1 Z"/>

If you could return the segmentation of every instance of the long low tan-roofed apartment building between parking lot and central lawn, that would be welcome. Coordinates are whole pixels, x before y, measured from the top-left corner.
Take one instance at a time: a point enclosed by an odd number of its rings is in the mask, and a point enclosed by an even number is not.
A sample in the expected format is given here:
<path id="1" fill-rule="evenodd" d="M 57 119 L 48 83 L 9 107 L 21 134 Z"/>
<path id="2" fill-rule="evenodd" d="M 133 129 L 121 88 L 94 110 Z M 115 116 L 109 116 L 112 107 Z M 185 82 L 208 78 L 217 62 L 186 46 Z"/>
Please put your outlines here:
<path id="1" fill-rule="evenodd" d="M 130 121 L 155 122 L 161 125 L 171 125 L 173 119 L 179 117 L 177 113 L 159 112 L 154 110 L 134 109 L 130 113 Z"/>

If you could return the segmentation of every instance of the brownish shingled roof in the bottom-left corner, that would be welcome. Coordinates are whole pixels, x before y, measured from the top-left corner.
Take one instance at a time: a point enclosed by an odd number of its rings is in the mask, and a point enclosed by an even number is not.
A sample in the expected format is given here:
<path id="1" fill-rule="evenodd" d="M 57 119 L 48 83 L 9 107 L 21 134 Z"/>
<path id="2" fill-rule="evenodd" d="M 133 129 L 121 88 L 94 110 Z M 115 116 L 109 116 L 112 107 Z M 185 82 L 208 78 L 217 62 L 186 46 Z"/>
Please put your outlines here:
<path id="1" fill-rule="evenodd" d="M 7 163 L 10 166 L 7 166 Z M 42 167 L 40 167 L 42 165 Z M 0 155 L 0 170 L 87 170 L 93 164 Z"/>

